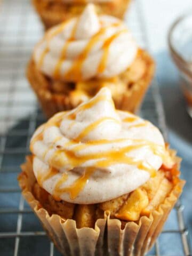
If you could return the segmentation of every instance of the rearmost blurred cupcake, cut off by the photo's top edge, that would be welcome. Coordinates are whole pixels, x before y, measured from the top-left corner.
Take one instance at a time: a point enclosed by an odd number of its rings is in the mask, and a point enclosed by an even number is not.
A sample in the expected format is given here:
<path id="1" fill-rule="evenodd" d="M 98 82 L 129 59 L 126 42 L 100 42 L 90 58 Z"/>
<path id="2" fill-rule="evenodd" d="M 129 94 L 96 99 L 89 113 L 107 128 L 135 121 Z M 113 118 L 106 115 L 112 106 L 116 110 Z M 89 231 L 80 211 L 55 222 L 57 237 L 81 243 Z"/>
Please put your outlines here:
<path id="1" fill-rule="evenodd" d="M 45 29 L 79 15 L 86 3 L 94 3 L 98 14 L 123 19 L 130 0 L 33 0 Z"/>

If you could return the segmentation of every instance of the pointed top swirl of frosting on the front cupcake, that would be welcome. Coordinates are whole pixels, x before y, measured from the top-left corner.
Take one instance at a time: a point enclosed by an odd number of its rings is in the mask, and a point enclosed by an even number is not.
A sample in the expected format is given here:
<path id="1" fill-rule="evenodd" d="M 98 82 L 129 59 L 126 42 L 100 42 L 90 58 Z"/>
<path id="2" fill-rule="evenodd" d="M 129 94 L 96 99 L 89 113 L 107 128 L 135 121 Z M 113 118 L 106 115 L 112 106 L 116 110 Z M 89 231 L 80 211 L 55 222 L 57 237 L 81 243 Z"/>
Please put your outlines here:
<path id="1" fill-rule="evenodd" d="M 109 126 L 111 129 L 108 129 Z M 121 130 L 121 119 L 116 113 L 110 91 L 107 88 L 101 89 L 89 102 L 69 112 L 61 123 L 62 128 L 69 139 L 75 139 L 74 134 L 76 140 L 80 141 L 114 138 Z"/>

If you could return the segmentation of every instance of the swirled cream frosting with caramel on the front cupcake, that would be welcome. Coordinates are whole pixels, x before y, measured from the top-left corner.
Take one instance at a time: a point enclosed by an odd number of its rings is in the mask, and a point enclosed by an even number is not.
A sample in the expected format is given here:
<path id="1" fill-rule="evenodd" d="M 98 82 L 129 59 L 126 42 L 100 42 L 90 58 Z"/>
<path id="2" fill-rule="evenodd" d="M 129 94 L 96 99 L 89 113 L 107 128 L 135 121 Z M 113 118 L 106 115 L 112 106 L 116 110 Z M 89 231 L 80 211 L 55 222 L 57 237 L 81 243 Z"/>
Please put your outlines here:
<path id="1" fill-rule="evenodd" d="M 40 126 L 30 150 L 39 185 L 56 200 L 77 204 L 130 193 L 155 175 L 166 153 L 161 132 L 116 110 L 106 87 Z"/>

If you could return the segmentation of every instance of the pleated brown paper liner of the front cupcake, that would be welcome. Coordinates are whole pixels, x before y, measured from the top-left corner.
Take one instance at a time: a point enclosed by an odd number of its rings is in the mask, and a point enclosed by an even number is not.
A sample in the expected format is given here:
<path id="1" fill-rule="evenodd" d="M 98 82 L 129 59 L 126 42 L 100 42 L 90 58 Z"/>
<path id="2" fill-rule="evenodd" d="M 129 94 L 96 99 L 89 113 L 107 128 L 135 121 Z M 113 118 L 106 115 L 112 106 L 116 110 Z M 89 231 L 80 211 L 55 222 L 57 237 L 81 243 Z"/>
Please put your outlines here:
<path id="1" fill-rule="evenodd" d="M 177 158 L 178 163 L 180 161 Z M 179 180 L 164 203 L 153 211 L 149 218 L 143 216 L 137 222 L 129 221 L 125 225 L 118 219 L 110 219 L 110 212 L 104 219 L 98 219 L 93 228 L 76 228 L 75 220 L 65 220 L 57 214 L 49 213 L 41 206 L 32 194 L 36 179 L 33 174 L 31 157 L 22 165 L 19 175 L 22 195 L 29 203 L 47 235 L 63 255 L 144 255 L 154 245 L 162 227 L 177 202 L 185 181 Z"/>

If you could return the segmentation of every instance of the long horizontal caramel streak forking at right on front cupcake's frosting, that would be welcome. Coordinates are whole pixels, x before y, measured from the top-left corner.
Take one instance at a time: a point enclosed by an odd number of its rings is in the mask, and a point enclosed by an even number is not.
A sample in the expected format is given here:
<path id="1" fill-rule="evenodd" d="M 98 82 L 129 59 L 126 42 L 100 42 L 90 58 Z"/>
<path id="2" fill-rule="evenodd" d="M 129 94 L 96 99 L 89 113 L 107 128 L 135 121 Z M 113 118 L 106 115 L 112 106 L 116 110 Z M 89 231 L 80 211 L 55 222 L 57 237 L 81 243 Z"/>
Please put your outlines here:
<path id="1" fill-rule="evenodd" d="M 97 145 L 99 143 L 97 142 Z M 92 143 L 94 145 L 94 143 Z M 102 144 L 101 144 L 102 145 Z M 135 161 L 132 157 L 127 156 L 126 154 L 132 150 L 139 149 L 141 147 L 148 147 L 153 151 L 155 155 L 163 155 L 163 146 L 157 146 L 153 143 L 143 141 L 138 145 L 125 146 L 118 149 L 112 149 L 110 151 L 102 151 L 99 153 L 90 153 L 87 155 L 77 155 L 79 150 L 86 149 L 89 147 L 87 144 L 77 145 L 73 149 L 61 149 L 56 151 L 52 158 L 49 161 L 49 164 L 57 168 L 62 167 L 63 165 L 70 164 L 70 170 L 76 166 L 83 166 L 87 161 L 94 159 L 95 168 L 105 169 L 111 165 L 117 163 L 137 165 L 138 169 L 145 170 L 150 174 L 154 174 L 155 170 L 153 167 L 149 166 L 147 163 L 144 164 L 141 161 Z"/>

